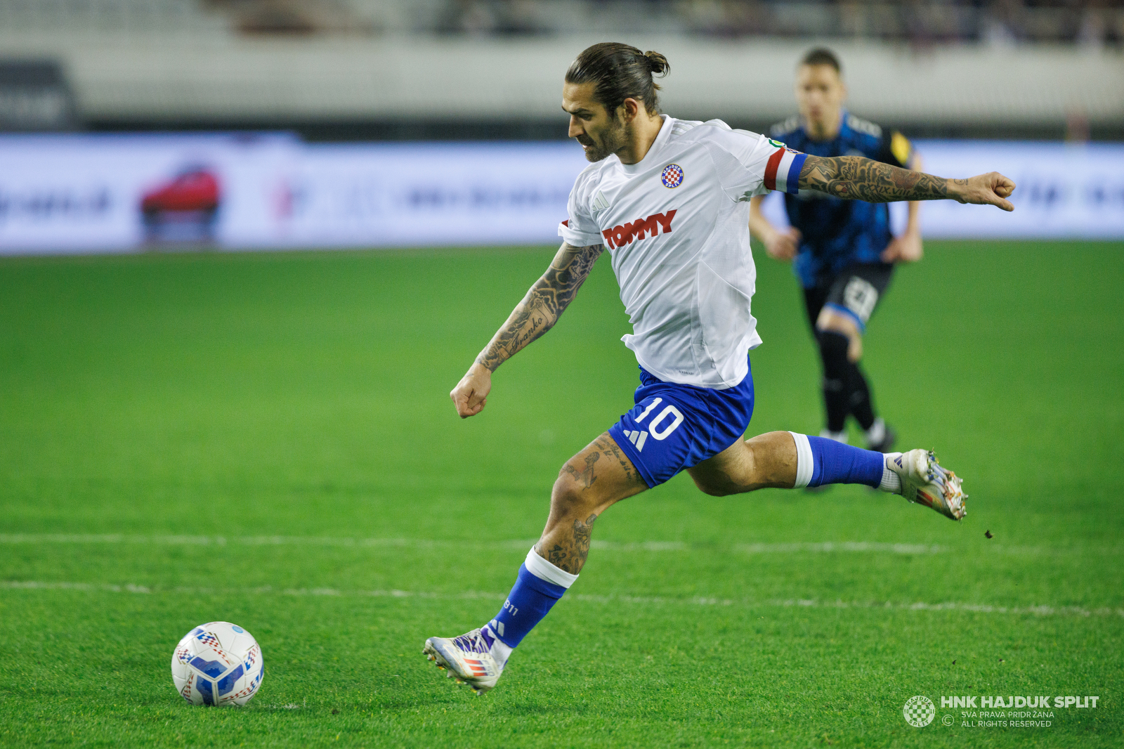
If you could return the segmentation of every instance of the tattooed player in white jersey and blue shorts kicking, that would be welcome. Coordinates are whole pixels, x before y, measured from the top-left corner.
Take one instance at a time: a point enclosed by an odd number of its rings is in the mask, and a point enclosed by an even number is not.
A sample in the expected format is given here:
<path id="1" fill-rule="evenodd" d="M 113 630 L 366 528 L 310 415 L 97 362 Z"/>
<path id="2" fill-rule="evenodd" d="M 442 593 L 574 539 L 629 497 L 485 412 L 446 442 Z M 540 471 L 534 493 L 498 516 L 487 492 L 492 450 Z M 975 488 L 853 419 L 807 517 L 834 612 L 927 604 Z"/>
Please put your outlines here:
<path id="1" fill-rule="evenodd" d="M 641 367 L 636 405 L 562 467 L 546 527 L 499 613 L 460 637 L 426 640 L 428 658 L 478 694 L 578 579 L 598 516 L 681 470 L 714 496 L 865 484 L 964 516 L 960 479 L 925 450 L 883 455 L 792 432 L 743 440 L 753 413 L 747 352 L 761 344 L 750 312 L 749 201 L 804 188 L 1012 210 L 1014 182 L 996 172 L 945 180 L 862 156 L 807 156 L 720 120 L 678 120 L 659 114 L 652 80 L 668 69 L 663 55 L 617 43 L 596 44 L 570 65 L 562 109 L 593 163 L 570 193 L 550 268 L 450 394 L 461 417 L 479 414 L 491 373 L 558 322 L 608 251 L 633 325 L 624 342 Z"/>

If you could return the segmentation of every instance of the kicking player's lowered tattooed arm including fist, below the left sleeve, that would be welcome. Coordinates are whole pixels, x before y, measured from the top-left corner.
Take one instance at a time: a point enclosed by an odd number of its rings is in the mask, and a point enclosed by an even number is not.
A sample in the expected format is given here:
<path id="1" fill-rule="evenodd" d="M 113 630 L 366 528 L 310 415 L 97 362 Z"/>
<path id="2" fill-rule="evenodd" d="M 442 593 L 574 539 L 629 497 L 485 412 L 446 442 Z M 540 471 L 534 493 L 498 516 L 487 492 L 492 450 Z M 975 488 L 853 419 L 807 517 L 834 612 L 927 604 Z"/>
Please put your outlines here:
<path id="1" fill-rule="evenodd" d="M 475 416 L 483 410 L 491 390 L 491 373 L 497 367 L 554 327 L 604 250 L 605 245 L 601 244 L 574 247 L 562 243 L 546 272 L 535 281 L 527 296 L 515 307 L 507 322 L 448 394 L 461 418 Z"/>

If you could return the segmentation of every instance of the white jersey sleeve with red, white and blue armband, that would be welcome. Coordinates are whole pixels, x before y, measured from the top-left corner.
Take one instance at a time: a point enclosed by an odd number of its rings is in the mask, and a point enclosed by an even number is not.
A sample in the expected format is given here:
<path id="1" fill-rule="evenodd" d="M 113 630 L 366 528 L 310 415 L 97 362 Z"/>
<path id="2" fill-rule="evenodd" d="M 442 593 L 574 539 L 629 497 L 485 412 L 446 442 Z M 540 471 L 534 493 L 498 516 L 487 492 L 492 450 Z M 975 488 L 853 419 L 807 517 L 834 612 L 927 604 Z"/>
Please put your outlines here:
<path id="1" fill-rule="evenodd" d="M 726 130 L 711 141 L 710 155 L 723 190 L 749 200 L 770 190 L 796 195 L 807 155 L 747 130 Z"/>

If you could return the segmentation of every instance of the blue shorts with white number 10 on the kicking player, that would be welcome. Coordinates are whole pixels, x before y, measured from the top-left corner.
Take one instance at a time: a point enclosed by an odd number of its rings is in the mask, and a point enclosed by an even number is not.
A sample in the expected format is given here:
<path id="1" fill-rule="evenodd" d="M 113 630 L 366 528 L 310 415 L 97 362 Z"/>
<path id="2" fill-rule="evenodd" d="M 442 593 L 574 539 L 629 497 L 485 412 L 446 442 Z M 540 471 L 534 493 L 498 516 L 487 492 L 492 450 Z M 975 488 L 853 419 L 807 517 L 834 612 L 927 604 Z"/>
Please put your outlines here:
<path id="1" fill-rule="evenodd" d="M 609 427 L 649 487 L 741 440 L 753 416 L 753 372 L 725 390 L 656 379 L 643 367 L 636 407 Z"/>

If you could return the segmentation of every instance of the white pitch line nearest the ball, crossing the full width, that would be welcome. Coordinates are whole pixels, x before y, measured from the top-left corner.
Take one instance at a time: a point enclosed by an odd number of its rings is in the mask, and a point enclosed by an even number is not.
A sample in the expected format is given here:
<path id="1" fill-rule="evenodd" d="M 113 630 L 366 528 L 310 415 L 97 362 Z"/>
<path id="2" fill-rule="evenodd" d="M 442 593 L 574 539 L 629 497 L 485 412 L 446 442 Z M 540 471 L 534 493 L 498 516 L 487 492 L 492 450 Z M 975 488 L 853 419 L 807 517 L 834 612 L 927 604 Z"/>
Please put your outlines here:
<path id="1" fill-rule="evenodd" d="M 341 590 L 337 588 L 192 588 L 170 587 L 153 588 L 144 585 L 115 585 L 110 583 L 62 583 L 40 580 L 0 580 L 0 590 L 84 590 L 94 593 L 130 593 L 138 595 L 160 595 L 184 593 L 196 595 L 281 595 L 281 596 L 329 596 L 329 597 L 374 597 L 374 598 L 430 598 L 459 601 L 502 601 L 501 593 L 481 590 L 464 590 L 461 593 L 433 593 L 428 590 Z M 749 598 L 674 598 L 668 596 L 628 596 L 628 595 L 593 595 L 573 593 L 566 601 L 600 604 L 641 604 L 658 606 L 737 606 L 752 608 L 768 606 L 774 608 L 883 608 L 887 611 L 959 611 L 976 614 L 1009 614 L 1035 616 L 1118 616 L 1124 619 L 1124 607 L 1100 606 L 1085 608 L 1081 606 L 997 606 L 992 604 L 973 604 L 955 601 L 943 603 L 895 602 L 895 601 L 819 601 L 817 598 L 776 598 L 769 601 L 752 601 Z"/>

